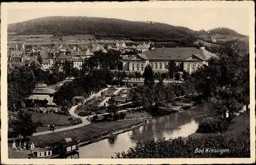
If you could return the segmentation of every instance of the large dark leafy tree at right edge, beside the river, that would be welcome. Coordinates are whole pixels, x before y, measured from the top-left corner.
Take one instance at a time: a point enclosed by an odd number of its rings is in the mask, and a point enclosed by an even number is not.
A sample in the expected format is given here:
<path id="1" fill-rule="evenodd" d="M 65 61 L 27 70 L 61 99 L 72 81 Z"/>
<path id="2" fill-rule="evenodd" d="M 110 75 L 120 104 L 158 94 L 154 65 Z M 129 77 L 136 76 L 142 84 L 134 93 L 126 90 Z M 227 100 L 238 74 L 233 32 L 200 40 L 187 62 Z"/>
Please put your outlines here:
<path id="1" fill-rule="evenodd" d="M 249 53 L 246 45 L 231 41 L 220 48 L 218 57 L 208 60 L 208 66 L 193 77 L 205 99 L 211 100 L 226 119 L 226 113 L 232 117 L 249 102 Z"/>

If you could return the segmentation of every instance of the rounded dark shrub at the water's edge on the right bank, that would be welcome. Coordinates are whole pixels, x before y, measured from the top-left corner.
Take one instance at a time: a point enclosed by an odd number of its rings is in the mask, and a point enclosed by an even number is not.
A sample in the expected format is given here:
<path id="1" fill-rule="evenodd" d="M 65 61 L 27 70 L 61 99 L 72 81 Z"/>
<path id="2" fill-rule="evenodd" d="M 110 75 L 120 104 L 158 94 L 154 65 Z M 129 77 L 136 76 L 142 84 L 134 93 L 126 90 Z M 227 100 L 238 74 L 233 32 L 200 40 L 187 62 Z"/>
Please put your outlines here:
<path id="1" fill-rule="evenodd" d="M 217 119 L 217 118 L 206 118 L 199 123 L 198 133 L 217 133 L 224 132 L 227 130 L 229 122 Z"/>

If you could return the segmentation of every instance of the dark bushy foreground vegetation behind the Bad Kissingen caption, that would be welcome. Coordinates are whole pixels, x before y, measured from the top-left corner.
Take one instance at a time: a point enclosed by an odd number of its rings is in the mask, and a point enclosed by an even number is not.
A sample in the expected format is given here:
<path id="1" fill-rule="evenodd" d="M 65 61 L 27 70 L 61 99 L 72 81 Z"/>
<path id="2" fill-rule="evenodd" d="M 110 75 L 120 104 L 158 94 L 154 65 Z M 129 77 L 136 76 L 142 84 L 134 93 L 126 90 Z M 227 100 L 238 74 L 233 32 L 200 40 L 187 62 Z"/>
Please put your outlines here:
<path id="1" fill-rule="evenodd" d="M 203 150 L 198 153 L 197 150 Z M 217 152 L 216 152 L 217 151 Z M 170 140 L 138 142 L 129 151 L 117 153 L 116 158 L 230 158 L 250 157 L 250 141 L 242 146 L 222 135 L 197 139 L 182 137 Z"/>

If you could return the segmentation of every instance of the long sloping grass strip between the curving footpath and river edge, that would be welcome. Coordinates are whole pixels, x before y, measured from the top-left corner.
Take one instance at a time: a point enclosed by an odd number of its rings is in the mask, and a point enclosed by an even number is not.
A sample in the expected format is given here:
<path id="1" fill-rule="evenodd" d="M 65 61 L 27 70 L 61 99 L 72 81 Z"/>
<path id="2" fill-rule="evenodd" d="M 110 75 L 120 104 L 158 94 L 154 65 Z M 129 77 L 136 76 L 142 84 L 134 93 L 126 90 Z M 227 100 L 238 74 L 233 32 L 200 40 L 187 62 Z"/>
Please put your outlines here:
<path id="1" fill-rule="evenodd" d="M 86 142 L 89 140 L 95 140 L 97 137 L 107 135 L 112 131 L 119 130 L 126 127 L 131 127 L 140 123 L 142 120 L 122 120 L 113 122 L 98 122 L 91 123 L 89 125 L 70 129 L 61 132 L 54 132 L 50 134 L 44 134 L 31 137 L 30 142 L 34 142 L 35 147 L 46 146 L 52 142 L 59 142 L 67 137 L 71 137 L 73 140 L 80 140 L 80 142 Z"/>

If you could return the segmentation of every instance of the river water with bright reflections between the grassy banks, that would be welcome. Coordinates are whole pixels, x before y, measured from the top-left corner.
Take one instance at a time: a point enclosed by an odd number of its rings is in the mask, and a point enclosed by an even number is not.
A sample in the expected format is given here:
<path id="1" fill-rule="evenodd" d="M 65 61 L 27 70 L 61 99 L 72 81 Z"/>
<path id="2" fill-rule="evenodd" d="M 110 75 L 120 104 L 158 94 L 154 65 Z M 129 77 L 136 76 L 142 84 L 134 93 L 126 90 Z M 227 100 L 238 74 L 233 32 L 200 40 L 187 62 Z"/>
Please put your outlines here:
<path id="1" fill-rule="evenodd" d="M 111 158 L 116 156 L 115 152 L 127 151 L 138 141 L 186 137 L 196 132 L 201 120 L 215 113 L 214 107 L 205 103 L 180 113 L 148 119 L 146 125 L 137 129 L 80 147 L 79 155 L 80 158 Z"/>

